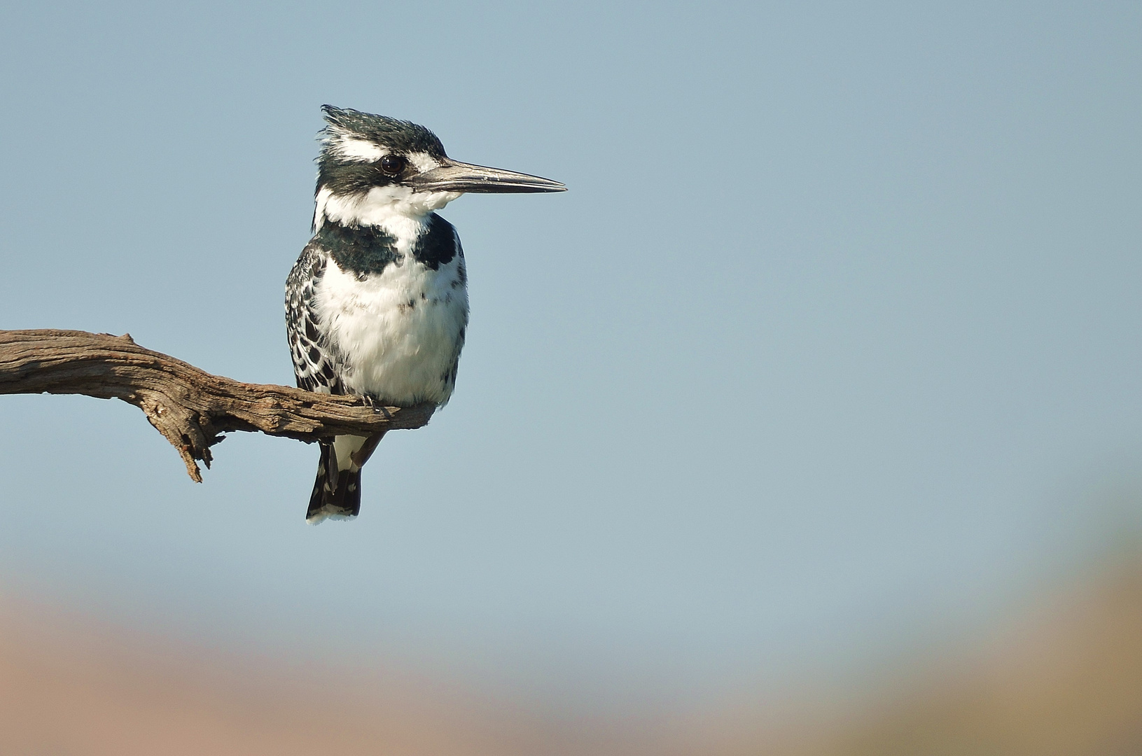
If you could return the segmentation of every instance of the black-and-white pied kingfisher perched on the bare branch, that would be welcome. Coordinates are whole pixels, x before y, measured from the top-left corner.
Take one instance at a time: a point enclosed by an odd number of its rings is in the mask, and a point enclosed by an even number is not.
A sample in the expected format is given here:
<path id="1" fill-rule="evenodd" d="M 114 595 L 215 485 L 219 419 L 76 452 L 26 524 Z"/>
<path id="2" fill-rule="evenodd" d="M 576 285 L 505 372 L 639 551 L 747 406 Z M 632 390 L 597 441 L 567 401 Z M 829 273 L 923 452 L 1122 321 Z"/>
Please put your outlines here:
<path id="1" fill-rule="evenodd" d="M 460 238 L 436 215 L 461 194 L 566 191 L 560 182 L 452 160 L 427 128 L 323 105 L 313 236 L 286 281 L 299 388 L 377 411 L 443 407 L 468 324 Z M 361 510 L 361 468 L 384 432 L 319 441 L 306 521 Z"/>

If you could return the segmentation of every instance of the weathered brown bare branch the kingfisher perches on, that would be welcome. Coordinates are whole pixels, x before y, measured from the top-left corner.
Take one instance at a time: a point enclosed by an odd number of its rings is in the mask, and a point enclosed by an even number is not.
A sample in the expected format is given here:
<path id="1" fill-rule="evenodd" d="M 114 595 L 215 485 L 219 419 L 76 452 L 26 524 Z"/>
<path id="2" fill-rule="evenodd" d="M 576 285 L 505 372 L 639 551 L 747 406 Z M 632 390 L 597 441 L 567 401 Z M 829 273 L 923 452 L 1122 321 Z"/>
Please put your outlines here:
<path id="1" fill-rule="evenodd" d="M 435 409 L 372 409 L 359 396 L 243 384 L 143 348 L 129 333 L 0 331 L 0 394 L 40 393 L 134 404 L 174 444 L 187 474 L 200 483 L 196 460 L 210 467 L 210 447 L 231 431 L 260 431 L 308 443 L 339 434 L 419 428 Z"/>

